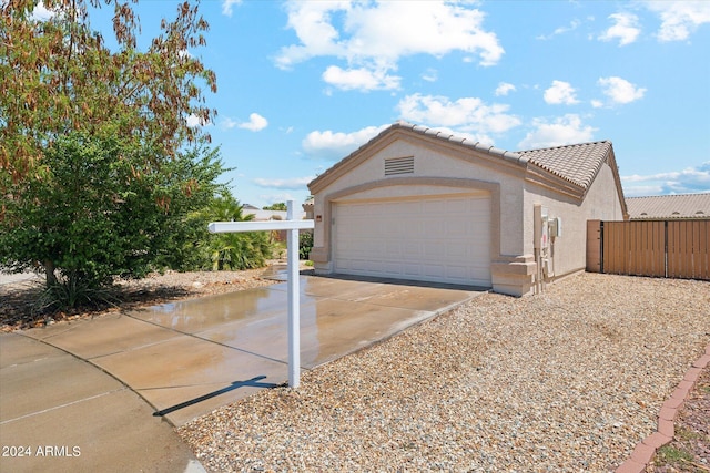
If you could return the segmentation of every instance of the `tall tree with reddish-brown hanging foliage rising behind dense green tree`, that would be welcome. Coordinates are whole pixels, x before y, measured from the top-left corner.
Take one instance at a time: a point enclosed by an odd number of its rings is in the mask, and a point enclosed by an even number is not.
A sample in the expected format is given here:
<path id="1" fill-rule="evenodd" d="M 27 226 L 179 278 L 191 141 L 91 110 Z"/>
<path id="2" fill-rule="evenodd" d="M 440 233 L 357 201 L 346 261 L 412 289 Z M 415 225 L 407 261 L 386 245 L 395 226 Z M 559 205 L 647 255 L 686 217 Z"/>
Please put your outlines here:
<path id="1" fill-rule="evenodd" d="M 151 156 L 159 160 L 209 140 L 187 123 L 216 114 L 201 89 L 216 92 L 216 78 L 187 51 L 205 44 L 209 24 L 185 1 L 140 51 L 135 1 L 42 0 L 49 19 L 33 16 L 38 0 L 0 1 L 0 196 L 36 175 L 47 150 L 70 132 L 92 135 L 109 125 L 124 140 L 160 143 L 164 153 Z M 114 48 L 89 24 L 89 8 L 106 6 Z"/>

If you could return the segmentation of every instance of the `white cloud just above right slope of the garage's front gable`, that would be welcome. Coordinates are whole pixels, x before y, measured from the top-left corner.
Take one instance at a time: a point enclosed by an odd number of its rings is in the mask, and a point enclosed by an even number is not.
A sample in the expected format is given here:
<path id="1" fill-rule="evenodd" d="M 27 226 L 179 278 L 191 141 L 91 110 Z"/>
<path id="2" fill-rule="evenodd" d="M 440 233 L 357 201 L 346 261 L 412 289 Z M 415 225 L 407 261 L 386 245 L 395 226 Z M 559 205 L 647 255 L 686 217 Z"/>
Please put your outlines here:
<path id="1" fill-rule="evenodd" d="M 418 93 L 405 96 L 397 104 L 402 119 L 406 121 L 436 127 L 450 126 L 490 144 L 493 140 L 487 133 L 504 133 L 521 123 L 520 119 L 507 113 L 509 107 L 498 103 L 488 105 L 477 97 L 450 101 L 445 96 Z"/>

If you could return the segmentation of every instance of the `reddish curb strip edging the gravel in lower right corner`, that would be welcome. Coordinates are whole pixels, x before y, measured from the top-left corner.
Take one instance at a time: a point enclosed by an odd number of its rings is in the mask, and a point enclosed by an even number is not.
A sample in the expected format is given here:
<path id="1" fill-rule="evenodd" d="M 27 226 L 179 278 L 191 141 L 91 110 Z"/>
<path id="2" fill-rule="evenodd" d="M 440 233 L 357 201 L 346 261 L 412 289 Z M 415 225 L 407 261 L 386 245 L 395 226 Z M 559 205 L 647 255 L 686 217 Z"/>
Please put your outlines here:
<path id="1" fill-rule="evenodd" d="M 692 363 L 686 372 L 682 381 L 678 383 L 670 398 L 663 402 L 658 414 L 658 428 L 656 432 L 643 439 L 636 445 L 631 456 L 621 463 L 616 473 L 643 473 L 650 463 L 656 451 L 673 440 L 676 434 L 673 422 L 688 398 L 688 394 L 696 385 L 702 370 L 710 364 L 710 343 L 706 347 L 706 353 Z"/>

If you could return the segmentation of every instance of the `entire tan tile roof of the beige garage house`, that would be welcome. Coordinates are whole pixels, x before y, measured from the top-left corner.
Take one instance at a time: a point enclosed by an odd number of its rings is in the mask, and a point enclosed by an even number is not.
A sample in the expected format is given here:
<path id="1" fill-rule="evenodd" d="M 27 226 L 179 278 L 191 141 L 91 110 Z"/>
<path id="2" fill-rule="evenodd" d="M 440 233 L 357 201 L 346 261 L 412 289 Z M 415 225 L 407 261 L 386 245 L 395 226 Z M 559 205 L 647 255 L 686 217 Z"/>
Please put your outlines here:
<path id="1" fill-rule="evenodd" d="M 450 133 L 443 132 L 435 128 L 429 128 L 422 125 L 415 125 L 404 121 L 396 122 L 389 127 L 385 128 L 377 136 L 365 143 L 355 152 L 336 163 L 333 167 L 321 174 L 314 181 L 308 184 L 308 187 L 318 188 L 321 183 L 329 182 L 331 178 L 338 176 L 342 172 L 346 172 L 349 167 L 349 163 L 357 160 L 363 150 L 369 147 L 373 143 L 383 140 L 385 136 L 392 133 L 407 133 L 417 134 L 455 146 L 460 146 L 467 150 L 485 153 L 491 157 L 504 160 L 507 163 L 516 164 L 527 169 L 531 166 L 541 171 L 545 174 L 552 175 L 561 178 L 562 181 L 571 184 L 577 188 L 575 194 L 580 198 L 584 197 L 589 186 L 594 182 L 597 173 L 601 168 L 604 163 L 608 163 L 613 171 L 613 178 L 616 182 L 617 192 L 623 214 L 626 215 L 626 203 L 623 199 L 623 189 L 621 188 L 621 179 L 619 178 L 616 160 L 613 156 L 613 147 L 611 142 L 601 141 L 594 143 L 582 143 L 568 146 L 557 146 L 545 150 L 530 150 L 530 151 L 506 151 L 495 146 L 485 145 L 480 142 L 455 136 Z M 312 188 L 313 191 L 313 188 Z"/>

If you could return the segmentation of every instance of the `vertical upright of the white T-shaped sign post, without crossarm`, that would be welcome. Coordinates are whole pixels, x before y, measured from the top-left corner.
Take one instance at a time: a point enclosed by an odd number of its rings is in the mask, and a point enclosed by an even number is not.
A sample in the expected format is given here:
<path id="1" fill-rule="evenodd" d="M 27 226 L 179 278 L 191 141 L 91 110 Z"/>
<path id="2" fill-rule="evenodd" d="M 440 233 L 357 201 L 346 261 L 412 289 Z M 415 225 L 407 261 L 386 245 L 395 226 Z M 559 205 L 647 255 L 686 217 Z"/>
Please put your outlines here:
<path id="1" fill-rule="evenodd" d="M 294 220 L 293 200 L 286 203 L 286 219 Z M 298 289 L 298 229 L 286 230 L 288 258 L 288 385 L 301 384 L 301 294 Z"/>

